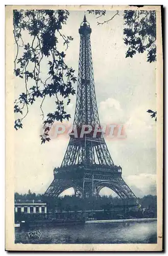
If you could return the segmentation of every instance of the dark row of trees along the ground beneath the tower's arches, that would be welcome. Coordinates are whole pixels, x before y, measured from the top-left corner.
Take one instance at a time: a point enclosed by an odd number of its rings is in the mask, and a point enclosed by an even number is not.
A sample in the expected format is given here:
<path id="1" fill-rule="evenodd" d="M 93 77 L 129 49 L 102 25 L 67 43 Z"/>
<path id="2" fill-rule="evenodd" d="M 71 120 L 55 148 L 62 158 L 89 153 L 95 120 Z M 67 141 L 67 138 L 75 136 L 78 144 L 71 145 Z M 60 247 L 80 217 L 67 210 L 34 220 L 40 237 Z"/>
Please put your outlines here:
<path id="1" fill-rule="evenodd" d="M 77 210 L 110 210 L 116 206 L 133 205 L 135 200 L 123 201 L 118 197 L 99 196 L 98 198 L 79 198 L 75 196 L 64 196 L 58 198 L 52 198 L 44 196 L 43 194 L 31 193 L 28 194 L 15 193 L 15 200 L 41 200 L 47 203 L 47 208 L 50 211 L 64 210 L 64 211 L 77 211 Z M 148 195 L 143 198 L 138 198 L 138 203 L 141 205 L 141 209 L 148 208 L 156 212 L 157 210 L 157 198 L 156 196 Z"/>

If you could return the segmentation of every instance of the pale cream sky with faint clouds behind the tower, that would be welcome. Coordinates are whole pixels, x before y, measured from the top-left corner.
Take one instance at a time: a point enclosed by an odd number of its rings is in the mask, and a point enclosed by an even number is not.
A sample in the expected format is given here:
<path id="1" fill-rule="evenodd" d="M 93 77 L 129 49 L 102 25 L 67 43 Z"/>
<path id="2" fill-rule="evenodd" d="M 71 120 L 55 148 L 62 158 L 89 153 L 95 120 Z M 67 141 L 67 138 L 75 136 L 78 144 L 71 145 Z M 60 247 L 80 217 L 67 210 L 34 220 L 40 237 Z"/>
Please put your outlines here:
<path id="1" fill-rule="evenodd" d="M 115 11 L 108 11 L 99 22 L 109 19 Z M 78 29 L 83 20 L 84 11 L 70 11 L 67 24 L 62 32 L 71 35 L 65 51 L 61 40 L 58 48 L 66 53 L 65 61 L 73 67 L 78 76 L 80 35 Z M 123 12 L 119 11 L 111 22 L 97 25 L 98 19 L 86 13 L 92 29 L 91 50 L 94 70 L 95 93 L 97 97 L 100 122 L 124 124 L 127 138 L 124 140 L 106 140 L 114 164 L 121 165 L 123 178 L 137 197 L 156 194 L 156 123 L 147 113 L 156 110 L 156 63 L 147 62 L 147 54 L 136 54 L 126 58 L 127 46 L 124 44 Z M 23 38 L 28 41 L 25 33 Z M 15 53 L 14 53 L 15 54 Z M 45 71 L 43 62 L 41 72 Z M 24 85 L 21 79 L 14 79 L 15 97 L 22 93 Z M 77 83 L 75 84 L 77 89 Z M 55 110 L 55 99 L 47 98 L 43 105 L 46 115 Z M 37 100 L 23 120 L 23 129 L 15 133 L 15 191 L 44 193 L 53 181 L 53 169 L 60 166 L 68 138 L 59 137 L 41 145 L 40 132 L 42 118 L 40 100 Z M 73 122 L 76 95 L 71 97 L 67 111 Z M 17 117 L 18 118 L 18 117 Z M 66 191 L 71 193 L 71 189 Z M 108 188 L 101 195 L 109 195 Z M 113 194 L 114 195 L 114 194 Z"/>

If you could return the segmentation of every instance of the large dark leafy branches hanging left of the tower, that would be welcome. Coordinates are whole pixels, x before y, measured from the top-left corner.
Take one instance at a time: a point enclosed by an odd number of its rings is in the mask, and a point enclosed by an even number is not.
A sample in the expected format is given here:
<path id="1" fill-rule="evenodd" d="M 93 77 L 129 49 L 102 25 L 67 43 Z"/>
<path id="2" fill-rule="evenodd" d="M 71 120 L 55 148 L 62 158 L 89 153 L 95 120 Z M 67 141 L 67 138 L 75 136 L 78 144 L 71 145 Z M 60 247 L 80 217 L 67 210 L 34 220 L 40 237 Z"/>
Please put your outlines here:
<path id="1" fill-rule="evenodd" d="M 73 83 L 77 81 L 75 70 L 65 63 L 65 53 L 58 50 L 59 39 L 62 39 L 65 50 L 68 48 L 71 36 L 65 36 L 60 31 L 66 24 L 69 12 L 66 10 L 28 10 L 13 12 L 14 38 L 16 56 L 14 74 L 22 79 L 25 92 L 15 100 L 14 113 L 21 114 L 15 120 L 15 129 L 22 128 L 22 120 L 27 116 L 30 105 L 41 98 L 41 115 L 44 118 L 42 104 L 46 97 L 54 97 L 56 111 L 48 113 L 44 124 L 52 125 L 55 120 L 69 119 L 65 104 L 70 103 L 70 95 L 75 94 Z M 25 34 L 30 35 L 30 41 L 25 42 Z M 40 70 L 41 65 L 45 69 Z M 66 101 L 64 100 L 66 99 Z M 50 138 L 41 136 L 41 143 Z"/>

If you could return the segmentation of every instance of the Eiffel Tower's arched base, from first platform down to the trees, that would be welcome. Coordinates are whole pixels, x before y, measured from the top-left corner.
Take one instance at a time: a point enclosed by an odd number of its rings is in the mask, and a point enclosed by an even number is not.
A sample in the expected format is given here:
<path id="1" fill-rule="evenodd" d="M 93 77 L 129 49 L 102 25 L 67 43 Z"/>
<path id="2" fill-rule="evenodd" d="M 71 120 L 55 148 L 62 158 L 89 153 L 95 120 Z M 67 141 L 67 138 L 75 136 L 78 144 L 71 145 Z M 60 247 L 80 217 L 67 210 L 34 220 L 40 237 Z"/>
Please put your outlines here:
<path id="1" fill-rule="evenodd" d="M 136 196 L 125 183 L 121 174 L 109 174 L 105 172 L 83 172 L 79 169 L 80 174 L 83 173 L 83 177 L 70 177 L 69 172 L 54 173 L 54 180 L 46 190 L 45 195 L 51 197 L 58 197 L 64 190 L 73 187 L 75 191 L 75 196 L 79 197 L 98 197 L 100 190 L 103 187 L 108 187 L 112 189 L 120 198 L 130 199 Z M 73 175 L 75 176 L 75 175 Z"/>

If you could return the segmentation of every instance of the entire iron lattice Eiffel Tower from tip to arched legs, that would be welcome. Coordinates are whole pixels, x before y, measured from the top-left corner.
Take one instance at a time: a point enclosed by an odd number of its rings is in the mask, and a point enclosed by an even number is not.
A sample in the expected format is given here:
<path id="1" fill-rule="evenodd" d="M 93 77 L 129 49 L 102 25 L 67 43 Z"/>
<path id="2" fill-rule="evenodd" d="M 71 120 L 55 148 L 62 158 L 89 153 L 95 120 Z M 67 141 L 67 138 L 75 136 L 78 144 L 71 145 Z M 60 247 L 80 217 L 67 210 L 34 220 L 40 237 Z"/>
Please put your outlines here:
<path id="1" fill-rule="evenodd" d="M 78 132 L 82 125 L 101 127 L 94 90 L 91 28 L 86 16 L 80 25 L 79 34 L 78 90 L 74 118 Z M 103 136 L 99 132 L 97 136 L 92 135 L 90 132 L 84 134 L 83 138 L 70 136 L 62 164 L 54 169 L 54 180 L 45 195 L 58 197 L 65 189 L 73 187 L 76 196 L 98 196 L 103 187 L 108 187 L 122 199 L 136 199 L 122 178 L 121 166 L 114 165 Z"/>

